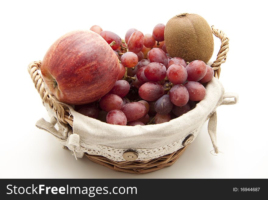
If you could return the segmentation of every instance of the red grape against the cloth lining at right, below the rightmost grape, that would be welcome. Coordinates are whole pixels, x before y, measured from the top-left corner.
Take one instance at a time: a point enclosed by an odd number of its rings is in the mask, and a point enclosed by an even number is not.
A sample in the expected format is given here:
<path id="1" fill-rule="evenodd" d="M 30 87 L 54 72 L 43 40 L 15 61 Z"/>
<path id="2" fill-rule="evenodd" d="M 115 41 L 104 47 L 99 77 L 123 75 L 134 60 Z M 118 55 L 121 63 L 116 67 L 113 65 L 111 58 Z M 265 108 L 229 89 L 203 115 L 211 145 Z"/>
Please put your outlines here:
<path id="1" fill-rule="evenodd" d="M 206 88 L 199 82 L 189 81 L 184 86 L 189 92 L 189 99 L 192 101 L 201 101 L 206 95 Z"/>

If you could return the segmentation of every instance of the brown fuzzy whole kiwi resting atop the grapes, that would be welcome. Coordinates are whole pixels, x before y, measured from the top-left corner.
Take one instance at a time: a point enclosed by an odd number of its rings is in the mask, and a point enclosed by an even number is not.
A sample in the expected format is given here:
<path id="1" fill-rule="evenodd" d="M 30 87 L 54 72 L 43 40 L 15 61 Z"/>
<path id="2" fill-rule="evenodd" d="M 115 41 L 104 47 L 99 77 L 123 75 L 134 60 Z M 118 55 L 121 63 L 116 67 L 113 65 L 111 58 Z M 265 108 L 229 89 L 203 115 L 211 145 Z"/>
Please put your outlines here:
<path id="1" fill-rule="evenodd" d="M 171 57 L 207 63 L 214 50 L 213 34 L 206 20 L 196 14 L 183 13 L 171 18 L 165 26 L 164 38 Z"/>

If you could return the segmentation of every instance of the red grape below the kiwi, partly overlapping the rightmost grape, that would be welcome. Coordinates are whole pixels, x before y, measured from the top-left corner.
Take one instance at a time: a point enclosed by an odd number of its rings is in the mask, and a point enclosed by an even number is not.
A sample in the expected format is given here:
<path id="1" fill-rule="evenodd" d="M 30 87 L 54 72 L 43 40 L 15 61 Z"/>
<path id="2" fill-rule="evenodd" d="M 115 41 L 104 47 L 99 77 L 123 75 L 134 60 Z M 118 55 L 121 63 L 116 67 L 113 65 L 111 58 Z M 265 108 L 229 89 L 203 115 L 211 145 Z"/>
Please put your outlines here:
<path id="1" fill-rule="evenodd" d="M 186 66 L 186 70 L 188 81 L 199 81 L 206 75 L 206 63 L 201 60 L 192 61 Z"/>

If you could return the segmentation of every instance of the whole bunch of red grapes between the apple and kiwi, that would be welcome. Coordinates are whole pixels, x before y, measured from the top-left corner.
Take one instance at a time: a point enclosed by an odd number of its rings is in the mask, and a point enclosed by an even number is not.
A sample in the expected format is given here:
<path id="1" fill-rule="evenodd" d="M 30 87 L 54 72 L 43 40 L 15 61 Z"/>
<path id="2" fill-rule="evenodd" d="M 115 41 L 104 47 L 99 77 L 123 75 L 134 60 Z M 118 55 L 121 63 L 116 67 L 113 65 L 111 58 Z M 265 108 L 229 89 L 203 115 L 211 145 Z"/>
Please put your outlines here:
<path id="1" fill-rule="evenodd" d="M 122 40 L 92 26 L 118 56 L 118 80 L 100 100 L 76 106 L 76 111 L 108 124 L 135 126 L 164 123 L 193 109 L 205 97 L 202 84 L 213 78 L 213 69 L 200 60 L 169 57 L 164 28 L 157 24 L 153 34 L 145 35 L 132 28 Z"/>

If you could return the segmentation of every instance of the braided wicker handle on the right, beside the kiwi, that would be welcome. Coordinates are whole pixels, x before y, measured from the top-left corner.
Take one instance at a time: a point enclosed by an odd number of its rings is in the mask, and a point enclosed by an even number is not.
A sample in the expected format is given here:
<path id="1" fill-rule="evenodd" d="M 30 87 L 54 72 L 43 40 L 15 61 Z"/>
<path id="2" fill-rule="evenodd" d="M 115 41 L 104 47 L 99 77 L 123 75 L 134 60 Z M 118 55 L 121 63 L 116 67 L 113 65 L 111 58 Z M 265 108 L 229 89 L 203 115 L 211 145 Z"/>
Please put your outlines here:
<path id="1" fill-rule="evenodd" d="M 226 37 L 226 34 L 218 29 L 215 29 L 214 26 L 211 26 L 212 33 L 221 40 L 220 51 L 217 54 L 217 59 L 213 62 L 211 67 L 214 70 L 214 76 L 220 78 L 220 65 L 226 61 L 227 52 L 229 51 L 229 38 Z"/>

